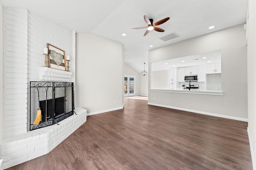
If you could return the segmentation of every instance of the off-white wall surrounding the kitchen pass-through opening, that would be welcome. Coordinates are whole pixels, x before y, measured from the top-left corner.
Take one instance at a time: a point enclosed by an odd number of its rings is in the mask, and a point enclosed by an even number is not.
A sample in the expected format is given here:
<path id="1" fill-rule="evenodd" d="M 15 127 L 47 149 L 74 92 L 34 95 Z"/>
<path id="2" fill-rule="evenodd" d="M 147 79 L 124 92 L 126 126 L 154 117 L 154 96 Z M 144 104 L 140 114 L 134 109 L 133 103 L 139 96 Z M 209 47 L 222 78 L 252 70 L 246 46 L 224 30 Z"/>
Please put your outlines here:
<path id="1" fill-rule="evenodd" d="M 222 90 L 224 95 L 197 95 L 149 90 L 148 103 L 225 115 L 226 117 L 246 121 L 248 119 L 248 107 L 247 47 L 245 40 L 246 32 L 244 31 L 244 25 L 241 24 L 149 51 L 148 59 L 149 63 L 152 63 L 221 50 Z M 149 74 L 150 70 L 149 65 Z M 234 81 L 237 77 L 239 77 L 239 81 Z M 153 97 L 155 97 L 155 100 Z"/>

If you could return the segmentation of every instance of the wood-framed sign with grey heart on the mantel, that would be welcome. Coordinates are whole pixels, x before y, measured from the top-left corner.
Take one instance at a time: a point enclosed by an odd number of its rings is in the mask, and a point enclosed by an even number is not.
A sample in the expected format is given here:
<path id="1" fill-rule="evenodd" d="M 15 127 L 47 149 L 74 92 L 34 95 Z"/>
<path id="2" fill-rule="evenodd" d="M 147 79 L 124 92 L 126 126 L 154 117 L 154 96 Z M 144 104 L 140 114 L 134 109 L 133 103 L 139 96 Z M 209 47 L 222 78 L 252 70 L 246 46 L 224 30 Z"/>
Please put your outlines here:
<path id="1" fill-rule="evenodd" d="M 48 66 L 50 68 L 66 71 L 65 51 L 47 43 Z"/>

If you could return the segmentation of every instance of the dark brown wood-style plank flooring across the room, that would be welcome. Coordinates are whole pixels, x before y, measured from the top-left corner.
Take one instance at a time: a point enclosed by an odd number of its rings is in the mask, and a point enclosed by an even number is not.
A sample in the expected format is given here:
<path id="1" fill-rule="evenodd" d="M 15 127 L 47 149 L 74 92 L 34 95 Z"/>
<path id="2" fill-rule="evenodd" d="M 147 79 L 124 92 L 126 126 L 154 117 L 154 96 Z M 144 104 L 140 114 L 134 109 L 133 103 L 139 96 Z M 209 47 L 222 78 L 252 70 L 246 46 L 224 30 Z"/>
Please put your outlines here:
<path id="1" fill-rule="evenodd" d="M 10 170 L 252 170 L 246 122 L 147 105 L 87 117 L 50 153 Z"/>

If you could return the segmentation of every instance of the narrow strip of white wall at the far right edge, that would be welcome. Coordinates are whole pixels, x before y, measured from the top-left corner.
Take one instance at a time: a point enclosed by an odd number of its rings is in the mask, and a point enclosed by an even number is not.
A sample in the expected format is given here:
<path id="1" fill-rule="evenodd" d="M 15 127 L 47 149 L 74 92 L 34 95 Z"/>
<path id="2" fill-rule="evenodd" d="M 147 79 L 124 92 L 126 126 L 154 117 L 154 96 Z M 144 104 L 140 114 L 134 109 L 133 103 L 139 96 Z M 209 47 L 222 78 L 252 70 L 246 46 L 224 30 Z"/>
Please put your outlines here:
<path id="1" fill-rule="evenodd" d="M 248 37 L 248 135 L 252 154 L 253 169 L 256 169 L 256 1 L 249 0 Z"/>

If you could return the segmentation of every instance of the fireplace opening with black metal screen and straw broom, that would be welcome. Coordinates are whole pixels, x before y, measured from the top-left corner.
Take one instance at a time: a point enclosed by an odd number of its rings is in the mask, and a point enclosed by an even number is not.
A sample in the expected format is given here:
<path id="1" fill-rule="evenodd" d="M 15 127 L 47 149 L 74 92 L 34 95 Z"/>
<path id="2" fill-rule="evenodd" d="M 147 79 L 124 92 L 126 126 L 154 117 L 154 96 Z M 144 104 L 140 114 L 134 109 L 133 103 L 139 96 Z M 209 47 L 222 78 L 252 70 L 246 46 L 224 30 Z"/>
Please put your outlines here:
<path id="1" fill-rule="evenodd" d="M 74 83 L 30 82 L 30 130 L 74 115 Z"/>

